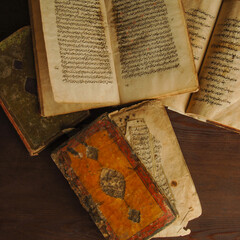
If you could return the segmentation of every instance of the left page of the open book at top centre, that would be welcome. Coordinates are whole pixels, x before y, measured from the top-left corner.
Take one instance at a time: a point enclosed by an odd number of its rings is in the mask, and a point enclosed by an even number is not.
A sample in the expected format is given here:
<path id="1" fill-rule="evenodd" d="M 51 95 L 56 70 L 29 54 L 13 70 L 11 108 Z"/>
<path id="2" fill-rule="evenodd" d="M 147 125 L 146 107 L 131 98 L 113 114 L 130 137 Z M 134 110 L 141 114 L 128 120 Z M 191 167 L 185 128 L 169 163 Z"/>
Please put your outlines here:
<path id="1" fill-rule="evenodd" d="M 119 103 L 99 0 L 39 0 L 56 102 Z"/>

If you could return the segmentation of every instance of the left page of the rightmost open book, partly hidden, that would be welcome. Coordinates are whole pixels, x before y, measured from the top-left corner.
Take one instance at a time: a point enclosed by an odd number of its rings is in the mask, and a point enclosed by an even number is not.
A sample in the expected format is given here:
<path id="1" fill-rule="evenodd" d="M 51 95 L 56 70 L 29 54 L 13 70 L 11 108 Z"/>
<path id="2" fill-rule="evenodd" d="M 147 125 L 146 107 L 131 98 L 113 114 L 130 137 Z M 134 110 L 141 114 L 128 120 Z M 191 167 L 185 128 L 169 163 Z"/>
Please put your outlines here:
<path id="1" fill-rule="evenodd" d="M 199 72 L 222 0 L 182 0 L 197 72 Z M 190 94 L 163 100 L 169 109 L 185 113 Z"/>

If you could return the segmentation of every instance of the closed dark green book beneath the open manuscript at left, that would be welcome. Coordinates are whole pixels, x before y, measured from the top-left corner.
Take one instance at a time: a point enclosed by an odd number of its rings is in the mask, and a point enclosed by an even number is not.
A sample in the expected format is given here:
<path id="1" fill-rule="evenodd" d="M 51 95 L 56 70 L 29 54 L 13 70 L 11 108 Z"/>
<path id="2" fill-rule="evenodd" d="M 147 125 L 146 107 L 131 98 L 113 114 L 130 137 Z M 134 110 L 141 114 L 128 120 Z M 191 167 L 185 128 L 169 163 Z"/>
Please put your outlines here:
<path id="1" fill-rule="evenodd" d="M 0 105 L 31 155 L 88 116 L 88 111 L 40 116 L 30 27 L 0 43 Z"/>

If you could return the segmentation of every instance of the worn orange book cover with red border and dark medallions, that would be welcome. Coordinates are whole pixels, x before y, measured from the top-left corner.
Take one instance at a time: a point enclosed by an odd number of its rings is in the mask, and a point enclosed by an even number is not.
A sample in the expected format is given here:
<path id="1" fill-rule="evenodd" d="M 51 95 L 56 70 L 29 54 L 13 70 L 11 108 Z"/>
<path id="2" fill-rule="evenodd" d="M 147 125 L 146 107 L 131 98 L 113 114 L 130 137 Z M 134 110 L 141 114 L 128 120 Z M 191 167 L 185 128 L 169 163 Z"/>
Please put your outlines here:
<path id="1" fill-rule="evenodd" d="M 106 239 L 148 239 L 176 217 L 107 115 L 64 143 L 52 158 Z"/>

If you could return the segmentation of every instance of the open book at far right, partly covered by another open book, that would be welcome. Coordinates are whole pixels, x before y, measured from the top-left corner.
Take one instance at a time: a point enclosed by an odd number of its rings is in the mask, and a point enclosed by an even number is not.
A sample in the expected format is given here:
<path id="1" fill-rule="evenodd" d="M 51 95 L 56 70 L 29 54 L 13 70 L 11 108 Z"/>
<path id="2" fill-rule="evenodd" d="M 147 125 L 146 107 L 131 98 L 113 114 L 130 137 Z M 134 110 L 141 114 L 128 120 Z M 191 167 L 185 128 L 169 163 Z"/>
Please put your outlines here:
<path id="1" fill-rule="evenodd" d="M 183 0 L 183 4 L 200 91 L 168 98 L 164 104 L 180 113 L 239 131 L 240 1 Z"/>

